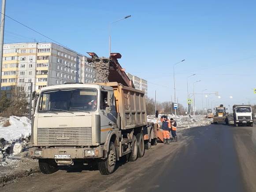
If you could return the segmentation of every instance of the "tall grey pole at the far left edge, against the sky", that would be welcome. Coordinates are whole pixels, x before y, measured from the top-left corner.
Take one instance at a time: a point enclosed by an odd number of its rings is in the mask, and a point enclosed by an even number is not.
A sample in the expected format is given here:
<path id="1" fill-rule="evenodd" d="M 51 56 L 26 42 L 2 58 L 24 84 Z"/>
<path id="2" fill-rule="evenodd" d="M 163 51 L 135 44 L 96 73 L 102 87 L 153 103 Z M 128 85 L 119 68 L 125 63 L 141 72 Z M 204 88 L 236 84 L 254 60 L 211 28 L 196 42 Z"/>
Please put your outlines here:
<path id="1" fill-rule="evenodd" d="M 2 0 L 2 15 L 0 23 L 0 95 L 2 82 L 2 63 L 3 63 L 3 48 L 4 48 L 4 17 L 5 17 L 5 0 Z"/>

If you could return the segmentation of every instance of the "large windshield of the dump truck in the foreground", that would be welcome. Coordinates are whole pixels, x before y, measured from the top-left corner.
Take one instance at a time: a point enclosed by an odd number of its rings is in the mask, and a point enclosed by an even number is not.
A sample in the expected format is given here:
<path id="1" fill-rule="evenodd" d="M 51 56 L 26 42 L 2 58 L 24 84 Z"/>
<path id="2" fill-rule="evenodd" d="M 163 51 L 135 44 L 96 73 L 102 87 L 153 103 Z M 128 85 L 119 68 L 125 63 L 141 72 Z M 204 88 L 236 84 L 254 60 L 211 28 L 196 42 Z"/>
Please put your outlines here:
<path id="1" fill-rule="evenodd" d="M 42 92 L 39 112 L 54 111 L 95 111 L 97 108 L 96 89 L 60 89 Z"/>

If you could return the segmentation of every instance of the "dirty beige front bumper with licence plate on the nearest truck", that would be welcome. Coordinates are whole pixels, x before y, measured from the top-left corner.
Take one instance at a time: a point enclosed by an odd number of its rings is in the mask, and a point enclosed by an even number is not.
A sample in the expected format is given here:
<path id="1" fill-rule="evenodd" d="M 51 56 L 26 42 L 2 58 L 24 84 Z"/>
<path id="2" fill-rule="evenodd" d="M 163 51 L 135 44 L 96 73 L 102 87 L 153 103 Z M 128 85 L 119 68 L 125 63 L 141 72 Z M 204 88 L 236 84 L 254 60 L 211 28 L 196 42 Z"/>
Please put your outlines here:
<path id="1" fill-rule="evenodd" d="M 92 159 L 104 157 L 104 146 L 95 148 L 77 148 L 77 147 L 56 147 L 56 148 L 30 148 L 30 155 L 33 159 Z M 59 155 L 59 156 L 57 156 Z M 63 156 L 61 156 L 63 155 Z"/>

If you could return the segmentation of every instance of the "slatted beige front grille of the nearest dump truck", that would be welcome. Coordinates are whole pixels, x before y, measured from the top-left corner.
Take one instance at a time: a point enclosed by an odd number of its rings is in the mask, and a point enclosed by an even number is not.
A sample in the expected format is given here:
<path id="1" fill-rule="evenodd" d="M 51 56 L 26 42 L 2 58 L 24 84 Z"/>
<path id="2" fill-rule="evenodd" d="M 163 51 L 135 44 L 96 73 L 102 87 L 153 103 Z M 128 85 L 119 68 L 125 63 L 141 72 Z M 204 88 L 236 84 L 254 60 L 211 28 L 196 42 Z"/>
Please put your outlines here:
<path id="1" fill-rule="evenodd" d="M 91 145 L 91 127 L 37 128 L 38 145 Z"/>

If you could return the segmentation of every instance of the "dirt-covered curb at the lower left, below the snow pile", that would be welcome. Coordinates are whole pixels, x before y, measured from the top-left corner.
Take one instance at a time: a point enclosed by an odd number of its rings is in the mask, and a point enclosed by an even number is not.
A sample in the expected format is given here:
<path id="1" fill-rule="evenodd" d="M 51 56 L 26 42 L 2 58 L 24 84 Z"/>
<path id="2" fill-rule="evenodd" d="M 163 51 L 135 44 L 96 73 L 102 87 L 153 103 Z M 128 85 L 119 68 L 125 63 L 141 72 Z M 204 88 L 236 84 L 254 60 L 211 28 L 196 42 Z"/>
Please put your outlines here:
<path id="1" fill-rule="evenodd" d="M 19 170 L 11 174 L 0 175 L 0 185 L 6 184 L 7 182 L 13 181 L 17 178 L 28 177 L 34 173 L 40 173 L 39 166 L 34 166 L 29 170 Z"/>

